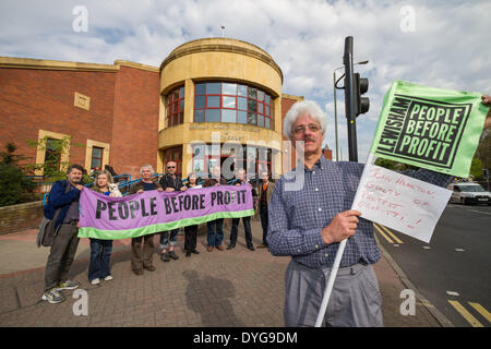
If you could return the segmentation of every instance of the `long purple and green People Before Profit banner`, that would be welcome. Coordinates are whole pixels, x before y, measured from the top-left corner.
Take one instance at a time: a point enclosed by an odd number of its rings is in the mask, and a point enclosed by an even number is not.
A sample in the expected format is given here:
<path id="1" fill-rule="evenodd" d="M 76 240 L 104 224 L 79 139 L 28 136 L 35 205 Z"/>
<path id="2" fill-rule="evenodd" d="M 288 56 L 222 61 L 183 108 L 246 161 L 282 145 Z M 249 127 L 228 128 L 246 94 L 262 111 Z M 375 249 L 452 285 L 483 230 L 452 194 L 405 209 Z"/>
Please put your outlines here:
<path id="1" fill-rule="evenodd" d="M 123 197 L 83 190 L 80 196 L 79 238 L 136 238 L 217 218 L 240 218 L 253 214 L 249 185 L 220 185 L 170 193 L 154 190 Z"/>

